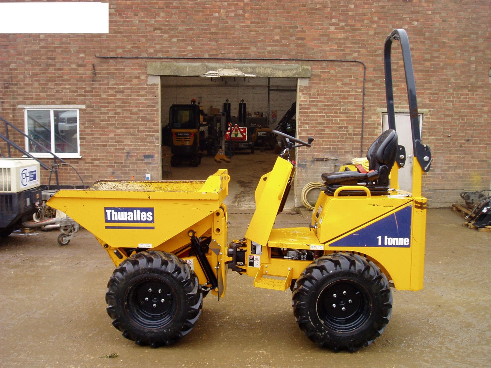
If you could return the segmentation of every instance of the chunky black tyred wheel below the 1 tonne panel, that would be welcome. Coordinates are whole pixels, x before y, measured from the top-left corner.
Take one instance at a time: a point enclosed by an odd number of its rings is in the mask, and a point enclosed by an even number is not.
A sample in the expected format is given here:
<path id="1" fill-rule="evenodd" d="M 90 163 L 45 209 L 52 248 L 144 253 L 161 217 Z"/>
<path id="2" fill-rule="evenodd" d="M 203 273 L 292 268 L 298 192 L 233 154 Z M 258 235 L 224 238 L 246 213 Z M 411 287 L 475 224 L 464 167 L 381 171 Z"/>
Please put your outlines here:
<path id="1" fill-rule="evenodd" d="M 334 253 L 305 268 L 295 284 L 292 306 L 310 340 L 353 352 L 382 334 L 392 312 L 392 292 L 373 262 Z"/>

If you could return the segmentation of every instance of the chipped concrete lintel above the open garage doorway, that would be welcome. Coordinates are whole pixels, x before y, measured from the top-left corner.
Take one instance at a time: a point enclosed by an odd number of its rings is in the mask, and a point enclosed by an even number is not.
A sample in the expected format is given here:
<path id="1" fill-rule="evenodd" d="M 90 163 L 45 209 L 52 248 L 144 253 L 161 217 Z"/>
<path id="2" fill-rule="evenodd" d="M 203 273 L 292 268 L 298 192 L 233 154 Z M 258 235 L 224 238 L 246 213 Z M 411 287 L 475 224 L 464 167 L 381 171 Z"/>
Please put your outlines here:
<path id="1" fill-rule="evenodd" d="M 310 65 L 304 64 L 232 64 L 232 63 L 181 63 L 152 62 L 147 63 L 147 75 L 155 76 L 202 76 L 218 69 L 236 69 L 245 75 L 276 78 L 310 78 Z M 231 75 L 231 77 L 240 77 Z"/>

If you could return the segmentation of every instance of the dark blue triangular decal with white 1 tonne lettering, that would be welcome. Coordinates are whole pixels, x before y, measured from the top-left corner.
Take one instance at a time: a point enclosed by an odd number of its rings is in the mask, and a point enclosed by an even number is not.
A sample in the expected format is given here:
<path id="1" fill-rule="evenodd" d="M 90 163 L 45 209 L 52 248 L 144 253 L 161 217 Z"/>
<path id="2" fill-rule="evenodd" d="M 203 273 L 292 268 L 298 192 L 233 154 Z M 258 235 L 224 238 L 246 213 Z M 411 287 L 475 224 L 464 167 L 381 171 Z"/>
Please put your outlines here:
<path id="1" fill-rule="evenodd" d="M 353 234 L 330 243 L 330 247 L 386 247 L 411 246 L 412 207 L 405 207 Z"/>

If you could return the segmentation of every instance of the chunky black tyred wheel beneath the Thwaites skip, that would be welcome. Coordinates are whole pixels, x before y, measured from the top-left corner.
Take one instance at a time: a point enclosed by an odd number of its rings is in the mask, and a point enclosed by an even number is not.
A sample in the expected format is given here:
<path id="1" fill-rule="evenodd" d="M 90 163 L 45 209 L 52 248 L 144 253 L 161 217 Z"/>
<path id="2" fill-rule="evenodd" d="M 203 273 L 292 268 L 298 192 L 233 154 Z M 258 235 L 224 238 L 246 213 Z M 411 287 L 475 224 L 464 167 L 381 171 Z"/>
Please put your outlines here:
<path id="1" fill-rule="evenodd" d="M 178 257 L 139 252 L 123 261 L 106 293 L 112 325 L 138 345 L 170 345 L 186 336 L 201 314 L 198 278 Z"/>

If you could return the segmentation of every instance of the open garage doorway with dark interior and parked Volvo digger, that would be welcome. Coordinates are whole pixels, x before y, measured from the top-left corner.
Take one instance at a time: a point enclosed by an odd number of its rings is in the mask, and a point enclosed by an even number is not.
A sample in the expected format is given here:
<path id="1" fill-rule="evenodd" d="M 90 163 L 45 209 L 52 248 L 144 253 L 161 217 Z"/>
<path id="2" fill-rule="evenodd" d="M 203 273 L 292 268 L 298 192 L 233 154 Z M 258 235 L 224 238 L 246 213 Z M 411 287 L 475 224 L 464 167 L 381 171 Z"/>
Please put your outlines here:
<path id="1" fill-rule="evenodd" d="M 163 179 L 206 180 L 226 168 L 225 204 L 253 209 L 257 183 L 281 152 L 271 130 L 296 136 L 296 101 L 297 78 L 161 76 Z M 217 162 L 218 150 L 230 162 Z"/>

